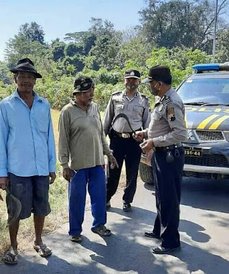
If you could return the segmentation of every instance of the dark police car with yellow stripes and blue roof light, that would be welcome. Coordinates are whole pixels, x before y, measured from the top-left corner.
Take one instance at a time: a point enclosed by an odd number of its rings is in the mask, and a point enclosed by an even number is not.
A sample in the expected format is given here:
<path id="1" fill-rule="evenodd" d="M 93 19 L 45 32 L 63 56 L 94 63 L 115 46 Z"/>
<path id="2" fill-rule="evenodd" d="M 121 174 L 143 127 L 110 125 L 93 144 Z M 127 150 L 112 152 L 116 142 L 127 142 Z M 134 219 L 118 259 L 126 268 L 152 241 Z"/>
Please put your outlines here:
<path id="1" fill-rule="evenodd" d="M 188 140 L 183 143 L 184 176 L 229 178 L 229 62 L 197 64 L 195 74 L 177 88 L 184 102 Z M 150 163 L 142 155 L 139 175 L 154 183 Z"/>

